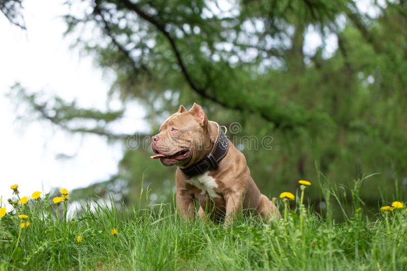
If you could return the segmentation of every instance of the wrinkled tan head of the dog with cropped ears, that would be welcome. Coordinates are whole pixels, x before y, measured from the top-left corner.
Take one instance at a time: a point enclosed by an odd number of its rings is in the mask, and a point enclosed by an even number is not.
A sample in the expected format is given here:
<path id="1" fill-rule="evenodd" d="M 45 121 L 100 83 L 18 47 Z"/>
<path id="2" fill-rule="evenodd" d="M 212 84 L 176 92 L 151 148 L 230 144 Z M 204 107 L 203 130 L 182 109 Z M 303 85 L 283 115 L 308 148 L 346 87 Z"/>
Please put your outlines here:
<path id="1" fill-rule="evenodd" d="M 180 110 L 169 116 L 160 126 L 160 133 L 152 138 L 151 149 L 163 165 L 183 166 L 195 161 L 207 141 L 205 113 L 198 105 L 190 111 L 181 106 Z M 199 148 L 198 148 L 199 147 Z"/>

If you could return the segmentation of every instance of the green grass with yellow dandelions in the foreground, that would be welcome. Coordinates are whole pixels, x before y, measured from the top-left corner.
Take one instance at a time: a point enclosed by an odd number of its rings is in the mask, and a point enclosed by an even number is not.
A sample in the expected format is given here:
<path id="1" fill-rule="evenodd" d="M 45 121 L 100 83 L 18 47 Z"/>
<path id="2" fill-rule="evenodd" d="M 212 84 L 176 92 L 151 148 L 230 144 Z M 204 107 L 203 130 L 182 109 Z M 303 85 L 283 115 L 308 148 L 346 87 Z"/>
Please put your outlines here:
<path id="1" fill-rule="evenodd" d="M 112 200 L 83 203 L 65 222 L 64 202 L 57 219 L 48 194 L 0 218 L 0 270 L 406 270 L 405 207 L 369 217 L 356 212 L 363 206 L 361 182 L 350 191 L 353 211 L 341 223 L 304 208 L 296 197 L 286 219 L 269 225 L 242 216 L 226 229 L 199 219 L 183 222 L 173 204 L 126 210 Z M 339 200 L 334 190 L 322 189 Z M 18 214 L 28 215 L 28 227 L 19 228 Z"/>

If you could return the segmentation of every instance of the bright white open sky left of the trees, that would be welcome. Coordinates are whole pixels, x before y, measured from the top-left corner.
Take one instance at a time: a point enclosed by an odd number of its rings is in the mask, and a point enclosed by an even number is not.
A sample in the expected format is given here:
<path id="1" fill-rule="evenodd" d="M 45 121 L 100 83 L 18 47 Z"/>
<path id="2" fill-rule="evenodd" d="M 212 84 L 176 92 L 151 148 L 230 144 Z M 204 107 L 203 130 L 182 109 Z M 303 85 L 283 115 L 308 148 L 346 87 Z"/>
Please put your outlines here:
<path id="1" fill-rule="evenodd" d="M 0 14 L 0 197 L 10 197 L 10 185 L 18 184 L 20 195 L 49 192 L 52 187 L 71 190 L 105 180 L 117 173 L 123 154 L 120 143 L 108 145 L 99 136 L 72 135 L 46 121 L 15 122 L 15 108 L 5 96 L 19 81 L 30 91 L 44 90 L 77 99 L 82 107 L 106 107 L 109 82 L 92 64 L 91 57 L 79 57 L 62 36 L 65 23 L 59 15 L 66 8 L 62 0 L 24 1 L 23 31 Z M 96 98 L 95 98 L 96 97 Z M 114 125 L 118 132 L 134 131 L 143 123 L 142 112 L 133 109 L 125 121 Z M 142 127 L 141 127 L 142 128 Z M 57 160 L 56 154 L 76 154 Z"/>

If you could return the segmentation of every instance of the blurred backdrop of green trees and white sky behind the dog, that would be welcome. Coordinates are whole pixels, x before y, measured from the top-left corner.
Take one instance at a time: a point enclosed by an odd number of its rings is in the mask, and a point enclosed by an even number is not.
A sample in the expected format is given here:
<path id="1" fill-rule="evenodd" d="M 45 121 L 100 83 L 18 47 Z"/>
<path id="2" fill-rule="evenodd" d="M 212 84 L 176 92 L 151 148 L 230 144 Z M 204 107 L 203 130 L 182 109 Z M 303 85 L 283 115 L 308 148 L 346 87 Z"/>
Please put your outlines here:
<path id="1" fill-rule="evenodd" d="M 171 202 L 150 137 L 195 102 L 269 197 L 407 191 L 407 2 L 1 0 L 0 194 Z M 265 140 L 266 139 L 266 140 Z M 255 142 L 257 141 L 257 145 Z M 266 142 L 267 141 L 267 142 Z M 318 178 L 318 171 L 321 172 Z M 394 198 L 396 197 L 396 198 Z"/>

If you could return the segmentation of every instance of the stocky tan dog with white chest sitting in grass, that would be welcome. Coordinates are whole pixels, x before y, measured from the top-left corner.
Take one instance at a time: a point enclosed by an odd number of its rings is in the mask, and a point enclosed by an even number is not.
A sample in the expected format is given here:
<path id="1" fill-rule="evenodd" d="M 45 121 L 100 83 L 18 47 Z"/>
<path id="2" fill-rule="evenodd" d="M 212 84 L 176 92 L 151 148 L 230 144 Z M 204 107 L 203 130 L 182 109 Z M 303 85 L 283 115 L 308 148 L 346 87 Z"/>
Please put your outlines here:
<path id="1" fill-rule="evenodd" d="M 152 138 L 152 150 L 163 165 L 177 165 L 177 209 L 183 219 L 198 215 L 216 219 L 225 215 L 229 223 L 242 209 L 269 220 L 281 217 L 279 211 L 261 194 L 247 166 L 245 156 L 221 132 L 216 122 L 208 121 L 203 109 L 194 104 L 187 111 L 180 106 Z"/>

